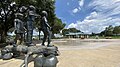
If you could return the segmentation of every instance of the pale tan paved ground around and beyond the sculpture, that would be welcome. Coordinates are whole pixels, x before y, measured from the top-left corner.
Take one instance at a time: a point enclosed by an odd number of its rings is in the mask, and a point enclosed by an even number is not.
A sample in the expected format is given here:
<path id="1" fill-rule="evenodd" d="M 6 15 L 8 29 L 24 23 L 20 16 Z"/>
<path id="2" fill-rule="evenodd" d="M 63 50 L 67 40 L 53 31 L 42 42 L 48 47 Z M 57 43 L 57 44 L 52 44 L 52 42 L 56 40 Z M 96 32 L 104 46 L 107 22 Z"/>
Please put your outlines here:
<path id="1" fill-rule="evenodd" d="M 53 44 L 59 47 L 57 67 L 120 67 L 119 39 L 58 39 Z M 0 67 L 19 67 L 23 60 L 0 60 Z M 33 62 L 29 64 L 33 67 Z"/>

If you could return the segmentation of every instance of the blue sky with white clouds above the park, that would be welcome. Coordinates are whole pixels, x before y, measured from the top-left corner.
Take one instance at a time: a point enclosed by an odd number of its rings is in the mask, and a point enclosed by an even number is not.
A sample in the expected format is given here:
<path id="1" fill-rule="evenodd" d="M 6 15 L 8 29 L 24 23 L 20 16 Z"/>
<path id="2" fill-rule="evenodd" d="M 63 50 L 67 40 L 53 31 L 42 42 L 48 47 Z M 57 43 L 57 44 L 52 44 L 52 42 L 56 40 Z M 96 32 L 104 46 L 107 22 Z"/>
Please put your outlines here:
<path id="1" fill-rule="evenodd" d="M 120 0 L 56 0 L 55 13 L 66 28 L 99 33 L 120 25 Z"/>

